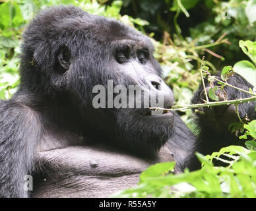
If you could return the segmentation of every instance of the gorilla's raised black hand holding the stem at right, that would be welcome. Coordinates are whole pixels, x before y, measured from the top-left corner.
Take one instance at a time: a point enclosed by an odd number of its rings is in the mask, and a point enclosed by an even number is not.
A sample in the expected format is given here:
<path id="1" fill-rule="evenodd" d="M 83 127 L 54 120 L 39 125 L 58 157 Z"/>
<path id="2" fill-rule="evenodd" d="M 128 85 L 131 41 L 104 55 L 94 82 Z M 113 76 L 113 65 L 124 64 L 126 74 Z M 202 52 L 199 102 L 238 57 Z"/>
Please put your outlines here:
<path id="1" fill-rule="evenodd" d="M 216 76 L 219 80 L 221 80 L 220 76 Z M 249 88 L 253 88 L 251 84 L 249 84 L 244 78 L 242 78 L 238 74 L 234 74 L 228 79 L 228 84 L 241 88 L 243 90 L 249 90 Z M 214 87 L 218 86 L 218 82 L 214 82 Z M 205 80 L 205 86 L 207 90 L 207 96 L 209 101 L 216 101 L 209 98 L 210 84 Z M 236 88 L 232 88 L 230 86 L 224 86 L 224 89 L 218 88 L 215 91 L 215 95 L 218 97 L 218 101 L 224 100 L 236 100 L 241 98 L 249 98 L 250 94 L 237 90 Z M 205 90 L 203 85 L 200 86 L 199 90 L 195 93 L 193 97 L 193 104 L 202 104 L 206 100 Z M 255 118 L 254 108 L 255 103 L 250 102 L 245 104 L 238 105 L 238 111 L 241 119 L 246 116 L 249 119 Z M 236 106 L 233 104 L 225 105 L 225 106 L 216 106 L 216 107 L 199 107 L 198 111 L 194 110 L 194 112 L 200 117 L 201 121 L 210 123 L 213 129 L 217 131 L 226 131 L 227 127 L 230 123 L 234 121 L 238 121 L 238 114 L 236 112 Z"/>

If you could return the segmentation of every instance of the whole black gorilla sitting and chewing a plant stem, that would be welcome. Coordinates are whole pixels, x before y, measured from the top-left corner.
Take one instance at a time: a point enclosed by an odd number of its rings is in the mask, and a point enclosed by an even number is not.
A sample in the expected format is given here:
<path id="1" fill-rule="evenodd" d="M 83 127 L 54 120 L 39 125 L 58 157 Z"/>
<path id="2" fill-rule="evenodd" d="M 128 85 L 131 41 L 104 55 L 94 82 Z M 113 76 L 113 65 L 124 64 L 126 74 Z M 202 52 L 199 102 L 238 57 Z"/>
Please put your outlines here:
<path id="1" fill-rule="evenodd" d="M 18 91 L 11 100 L 0 102 L 0 196 L 49 196 L 59 181 L 50 196 L 94 196 L 90 189 L 100 182 L 94 176 L 106 177 L 103 186 L 111 189 L 113 177 L 122 176 L 127 183 L 132 172 L 138 175 L 148 160 L 158 162 L 163 154 L 182 171 L 195 168 L 195 150 L 208 153 L 234 144 L 236 137 L 228 135 L 225 126 L 236 120 L 232 106 L 205 109 L 197 140 L 177 113 L 150 115 L 148 107 L 96 109 L 92 105 L 94 86 L 107 87 L 112 80 L 113 86 L 152 89 L 164 98 L 164 107 L 172 106 L 172 90 L 160 78 L 162 70 L 153 51 L 149 38 L 137 30 L 77 7 L 52 7 L 37 15 L 23 34 Z M 251 87 L 238 75 L 229 82 Z M 228 87 L 226 92 L 229 99 L 247 96 Z M 201 101 L 201 93 L 202 88 L 194 104 Z M 240 105 L 241 117 L 255 118 L 253 107 L 253 103 Z M 100 148 L 94 148 L 97 144 Z M 128 160 L 123 152 L 129 152 Z M 104 160 L 109 166 L 98 168 Z M 24 189 L 24 175 L 33 175 L 35 195 Z M 61 187 L 66 191 L 59 193 Z M 80 189 L 92 195 L 76 195 Z M 77 192 L 71 195 L 72 191 Z"/>

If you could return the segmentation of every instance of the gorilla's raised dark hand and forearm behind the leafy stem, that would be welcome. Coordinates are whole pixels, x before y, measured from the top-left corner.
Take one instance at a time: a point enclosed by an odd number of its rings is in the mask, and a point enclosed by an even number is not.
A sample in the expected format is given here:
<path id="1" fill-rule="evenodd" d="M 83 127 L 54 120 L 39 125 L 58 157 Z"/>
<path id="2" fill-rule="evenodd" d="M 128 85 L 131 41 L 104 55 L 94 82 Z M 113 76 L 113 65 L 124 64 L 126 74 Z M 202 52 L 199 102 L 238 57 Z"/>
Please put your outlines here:
<path id="1" fill-rule="evenodd" d="M 216 76 L 219 80 L 220 73 Z M 249 90 L 253 88 L 249 82 L 243 79 L 240 75 L 234 73 L 228 80 L 229 84 L 232 84 L 243 90 Z M 208 81 L 205 80 L 206 88 L 210 87 Z M 214 82 L 214 86 L 219 86 L 218 82 Z M 226 100 L 242 99 L 251 97 L 250 94 L 232 88 L 230 86 L 224 86 L 224 92 L 226 92 Z M 223 97 L 223 92 L 218 93 L 220 100 L 225 100 Z M 205 100 L 205 92 L 203 91 L 203 85 L 199 87 L 199 90 L 195 93 L 192 99 L 192 104 L 203 103 L 202 99 Z M 202 98 L 203 97 L 203 98 Z M 236 113 L 236 107 L 231 106 L 217 106 L 208 109 L 200 108 L 200 111 L 203 111 L 205 115 L 197 113 L 199 118 L 197 119 L 197 125 L 199 126 L 199 141 L 197 146 L 197 151 L 201 154 L 211 154 L 220 150 L 220 148 L 229 145 L 243 145 L 244 140 L 240 140 L 236 133 L 230 133 L 228 130 L 228 125 L 235 121 L 239 122 L 238 115 Z M 238 112 L 241 119 L 247 116 L 249 120 L 256 119 L 255 112 L 255 102 L 249 102 L 245 104 L 238 105 Z M 191 169 L 197 169 L 199 167 L 199 162 L 195 160 L 192 162 Z M 222 162 L 215 161 L 216 165 L 222 165 Z"/>

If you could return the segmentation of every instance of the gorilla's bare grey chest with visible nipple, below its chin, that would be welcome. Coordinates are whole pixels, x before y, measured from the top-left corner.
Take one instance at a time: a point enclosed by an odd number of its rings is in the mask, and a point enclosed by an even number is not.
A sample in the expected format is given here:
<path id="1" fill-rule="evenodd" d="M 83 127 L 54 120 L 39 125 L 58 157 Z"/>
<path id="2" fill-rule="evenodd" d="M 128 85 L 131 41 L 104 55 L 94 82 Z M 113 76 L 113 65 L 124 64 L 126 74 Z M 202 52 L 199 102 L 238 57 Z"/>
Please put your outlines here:
<path id="1" fill-rule="evenodd" d="M 109 197 L 135 187 L 140 173 L 150 165 L 173 161 L 166 147 L 160 155 L 144 160 L 103 145 L 38 152 L 32 196 Z"/>

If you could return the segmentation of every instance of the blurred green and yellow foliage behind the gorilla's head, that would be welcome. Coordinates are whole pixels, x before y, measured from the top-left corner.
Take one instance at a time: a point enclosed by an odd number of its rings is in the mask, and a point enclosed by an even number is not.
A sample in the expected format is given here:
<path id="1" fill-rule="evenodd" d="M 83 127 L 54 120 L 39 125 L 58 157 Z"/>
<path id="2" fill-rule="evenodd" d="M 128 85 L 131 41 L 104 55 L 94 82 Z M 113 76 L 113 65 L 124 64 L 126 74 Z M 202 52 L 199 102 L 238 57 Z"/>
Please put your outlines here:
<path id="1" fill-rule="evenodd" d="M 247 59 L 238 42 L 256 37 L 255 0 L 0 0 L 1 99 L 11 98 L 18 86 L 19 46 L 26 24 L 40 9 L 70 4 L 150 36 L 179 105 L 190 103 L 202 63 L 216 72 Z M 189 125 L 191 111 L 185 112 L 180 114 Z"/>

